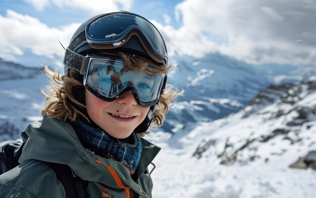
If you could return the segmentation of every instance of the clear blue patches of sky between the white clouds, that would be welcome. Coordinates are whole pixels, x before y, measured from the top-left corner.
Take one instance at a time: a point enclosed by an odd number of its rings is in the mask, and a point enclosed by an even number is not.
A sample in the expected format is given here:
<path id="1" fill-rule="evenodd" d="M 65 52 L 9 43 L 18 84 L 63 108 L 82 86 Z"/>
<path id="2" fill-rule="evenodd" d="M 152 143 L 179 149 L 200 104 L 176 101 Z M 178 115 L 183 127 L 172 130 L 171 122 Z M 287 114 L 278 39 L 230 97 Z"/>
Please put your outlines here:
<path id="1" fill-rule="evenodd" d="M 106 1 L 105 1 L 106 2 Z M 130 9 L 131 12 L 142 15 L 145 18 L 156 21 L 164 21 L 163 14 L 175 15 L 175 6 L 181 3 L 179 0 L 173 1 L 154 1 L 136 0 Z M 122 7 L 119 7 L 122 9 Z M 13 10 L 23 15 L 40 19 L 42 23 L 49 27 L 60 27 L 73 22 L 81 23 L 92 16 L 90 12 L 82 12 L 80 9 L 59 8 L 54 4 L 49 4 L 44 10 L 36 10 L 34 6 L 23 0 L 2 0 L 0 1 L 0 15 L 6 15 L 7 10 Z M 107 8 L 104 7 L 104 11 Z M 174 19 L 174 17 L 173 17 Z M 177 26 L 175 20 L 172 21 Z"/>

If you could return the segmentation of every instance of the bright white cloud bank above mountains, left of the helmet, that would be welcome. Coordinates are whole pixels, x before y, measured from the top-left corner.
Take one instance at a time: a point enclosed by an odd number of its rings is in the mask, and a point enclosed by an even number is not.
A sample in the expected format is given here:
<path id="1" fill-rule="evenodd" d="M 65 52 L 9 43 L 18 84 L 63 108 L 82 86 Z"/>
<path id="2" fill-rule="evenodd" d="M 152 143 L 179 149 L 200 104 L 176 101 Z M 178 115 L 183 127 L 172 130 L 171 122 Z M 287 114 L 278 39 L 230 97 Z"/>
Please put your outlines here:
<path id="1" fill-rule="evenodd" d="M 65 51 L 58 38 L 68 46 L 79 25 L 49 28 L 36 18 L 8 10 L 6 17 L 0 15 L 0 57 L 15 60 L 14 55 L 23 55 L 25 49 L 49 58 L 61 57 Z"/>

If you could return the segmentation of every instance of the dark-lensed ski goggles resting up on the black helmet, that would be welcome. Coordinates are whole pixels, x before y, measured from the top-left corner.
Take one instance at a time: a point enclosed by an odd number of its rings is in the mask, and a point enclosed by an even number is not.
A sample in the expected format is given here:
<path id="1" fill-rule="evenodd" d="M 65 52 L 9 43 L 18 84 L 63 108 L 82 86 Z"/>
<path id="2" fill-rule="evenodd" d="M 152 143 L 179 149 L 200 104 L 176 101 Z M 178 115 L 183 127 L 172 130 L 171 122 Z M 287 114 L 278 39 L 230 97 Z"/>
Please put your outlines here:
<path id="1" fill-rule="evenodd" d="M 121 47 L 133 35 L 138 37 L 145 52 L 155 61 L 167 63 L 168 53 L 162 35 L 152 23 L 139 15 L 129 12 L 100 14 L 85 28 L 86 41 L 94 49 Z"/>

